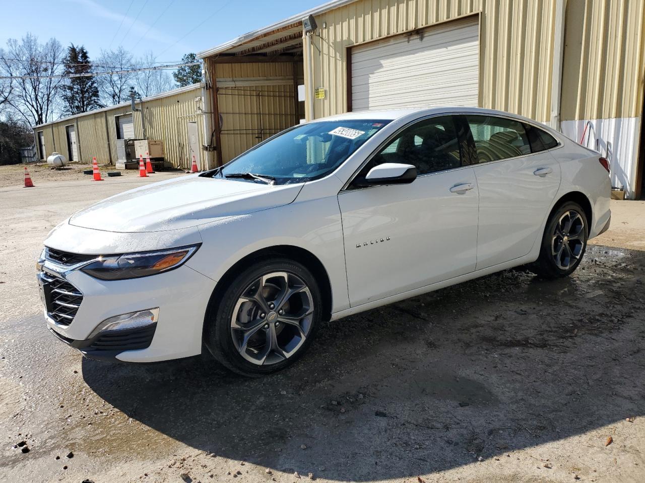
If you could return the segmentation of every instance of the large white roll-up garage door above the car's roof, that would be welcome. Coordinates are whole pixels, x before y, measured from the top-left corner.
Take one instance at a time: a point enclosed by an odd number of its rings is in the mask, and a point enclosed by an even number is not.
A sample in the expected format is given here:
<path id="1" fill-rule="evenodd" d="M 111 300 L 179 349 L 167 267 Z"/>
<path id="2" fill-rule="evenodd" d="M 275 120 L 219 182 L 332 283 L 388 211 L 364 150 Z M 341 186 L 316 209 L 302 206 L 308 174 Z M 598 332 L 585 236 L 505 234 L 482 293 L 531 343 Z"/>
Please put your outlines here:
<path id="1" fill-rule="evenodd" d="M 478 17 L 355 46 L 350 62 L 353 111 L 477 107 Z"/>

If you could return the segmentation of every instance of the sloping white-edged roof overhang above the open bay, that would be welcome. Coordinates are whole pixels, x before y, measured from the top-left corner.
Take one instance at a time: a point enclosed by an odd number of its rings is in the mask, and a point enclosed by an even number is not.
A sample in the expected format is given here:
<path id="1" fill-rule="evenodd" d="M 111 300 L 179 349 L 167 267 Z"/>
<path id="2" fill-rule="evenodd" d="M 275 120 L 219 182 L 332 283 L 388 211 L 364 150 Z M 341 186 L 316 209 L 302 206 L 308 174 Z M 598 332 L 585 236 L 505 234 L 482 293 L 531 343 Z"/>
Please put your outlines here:
<path id="1" fill-rule="evenodd" d="M 211 49 L 198 52 L 197 57 L 204 59 L 204 57 L 210 57 L 211 55 L 215 55 L 216 53 L 240 52 L 241 50 L 244 50 L 243 48 L 240 48 L 240 46 L 242 46 L 243 44 L 244 44 L 244 48 L 247 47 L 246 44 L 250 44 L 249 46 L 257 46 L 257 44 L 262 44 L 263 42 L 267 42 L 269 39 L 272 39 L 273 41 L 275 41 L 280 37 L 284 37 L 286 32 L 301 33 L 302 32 L 301 23 L 304 17 L 307 17 L 308 15 L 323 14 L 328 10 L 332 10 L 333 8 L 338 8 L 340 6 L 348 5 L 355 1 L 357 0 L 332 0 L 328 3 L 316 6 L 314 8 L 310 8 L 310 10 L 305 10 L 300 14 L 293 15 L 288 19 L 284 19 L 272 25 L 260 28 L 258 30 L 253 30 L 253 32 L 244 33 L 244 35 L 240 35 L 239 37 L 236 37 L 231 41 L 225 42 Z M 285 30 L 285 28 L 287 30 Z M 276 31 L 279 31 L 279 32 L 276 32 Z M 261 38 L 262 41 L 255 41 L 255 39 L 258 39 L 258 38 Z M 297 42 L 300 42 L 300 41 L 297 41 Z M 257 51 L 254 53 L 259 53 L 259 52 L 264 52 L 264 51 Z"/>

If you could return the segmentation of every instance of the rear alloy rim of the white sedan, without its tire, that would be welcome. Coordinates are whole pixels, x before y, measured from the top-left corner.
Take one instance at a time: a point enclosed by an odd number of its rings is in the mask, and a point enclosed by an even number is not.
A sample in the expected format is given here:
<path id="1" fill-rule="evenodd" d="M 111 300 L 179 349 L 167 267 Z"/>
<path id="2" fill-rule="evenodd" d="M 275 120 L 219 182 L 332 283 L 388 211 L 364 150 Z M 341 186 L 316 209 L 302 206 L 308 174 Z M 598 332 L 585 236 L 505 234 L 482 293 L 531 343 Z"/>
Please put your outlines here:
<path id="1" fill-rule="evenodd" d="M 581 257 L 585 244 L 584 216 L 575 210 L 562 214 L 551 238 L 551 255 L 556 267 L 568 270 Z"/>

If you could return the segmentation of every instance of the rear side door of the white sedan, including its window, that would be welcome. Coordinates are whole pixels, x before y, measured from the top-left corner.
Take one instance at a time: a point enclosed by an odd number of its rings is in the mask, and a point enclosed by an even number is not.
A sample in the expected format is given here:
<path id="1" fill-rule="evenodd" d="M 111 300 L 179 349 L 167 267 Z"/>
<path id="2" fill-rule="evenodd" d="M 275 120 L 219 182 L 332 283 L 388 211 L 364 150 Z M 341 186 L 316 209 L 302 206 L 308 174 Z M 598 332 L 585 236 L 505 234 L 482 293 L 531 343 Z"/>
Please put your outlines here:
<path id="1" fill-rule="evenodd" d="M 538 146 L 541 129 L 497 115 L 466 115 L 466 121 L 477 152 L 480 270 L 531 251 L 561 173 L 550 151 Z"/>

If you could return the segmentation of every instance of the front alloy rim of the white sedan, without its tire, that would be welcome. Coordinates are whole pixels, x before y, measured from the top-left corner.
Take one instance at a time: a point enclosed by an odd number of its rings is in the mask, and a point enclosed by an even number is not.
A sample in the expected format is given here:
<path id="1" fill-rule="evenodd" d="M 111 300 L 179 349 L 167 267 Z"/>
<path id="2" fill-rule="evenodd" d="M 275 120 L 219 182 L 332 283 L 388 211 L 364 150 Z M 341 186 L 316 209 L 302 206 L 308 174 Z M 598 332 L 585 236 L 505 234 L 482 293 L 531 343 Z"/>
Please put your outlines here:
<path id="1" fill-rule="evenodd" d="M 231 337 L 244 359 L 273 365 L 297 352 L 312 320 L 313 298 L 306 283 L 292 273 L 272 272 L 242 292 L 231 317 Z"/>

